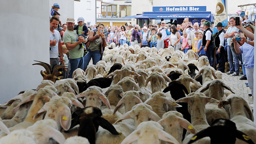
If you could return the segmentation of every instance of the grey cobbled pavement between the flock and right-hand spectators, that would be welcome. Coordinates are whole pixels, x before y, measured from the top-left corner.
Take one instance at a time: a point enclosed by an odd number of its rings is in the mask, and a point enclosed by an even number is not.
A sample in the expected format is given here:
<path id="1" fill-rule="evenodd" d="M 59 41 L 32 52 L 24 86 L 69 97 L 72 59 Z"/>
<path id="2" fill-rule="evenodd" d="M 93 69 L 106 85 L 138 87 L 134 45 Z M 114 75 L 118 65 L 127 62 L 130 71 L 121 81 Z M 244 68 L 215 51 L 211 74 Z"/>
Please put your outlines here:
<path id="1" fill-rule="evenodd" d="M 228 85 L 231 90 L 239 95 L 242 96 L 248 103 L 251 108 L 253 108 L 253 100 L 252 97 L 248 96 L 248 93 L 251 93 L 249 87 L 246 87 L 244 83 L 248 82 L 247 80 L 239 80 L 239 76 L 223 76 L 222 79 L 226 85 Z"/>

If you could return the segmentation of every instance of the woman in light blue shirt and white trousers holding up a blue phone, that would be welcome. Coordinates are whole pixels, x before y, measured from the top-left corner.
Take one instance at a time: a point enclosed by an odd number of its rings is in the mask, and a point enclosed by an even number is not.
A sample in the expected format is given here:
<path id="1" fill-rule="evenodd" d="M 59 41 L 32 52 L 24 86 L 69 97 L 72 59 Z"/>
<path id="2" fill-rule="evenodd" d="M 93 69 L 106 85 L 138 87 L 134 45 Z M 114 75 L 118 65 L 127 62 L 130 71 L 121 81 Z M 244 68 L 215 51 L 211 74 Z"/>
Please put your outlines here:
<path id="1" fill-rule="evenodd" d="M 237 53 L 243 53 L 246 77 L 253 96 L 254 40 L 251 39 L 251 34 L 254 34 L 254 27 L 251 24 L 247 24 L 243 28 L 245 28 L 246 34 L 244 33 L 244 36 L 234 36 L 232 38 L 232 45 L 234 45 L 234 49 Z M 250 35 L 249 38 L 247 35 Z"/>

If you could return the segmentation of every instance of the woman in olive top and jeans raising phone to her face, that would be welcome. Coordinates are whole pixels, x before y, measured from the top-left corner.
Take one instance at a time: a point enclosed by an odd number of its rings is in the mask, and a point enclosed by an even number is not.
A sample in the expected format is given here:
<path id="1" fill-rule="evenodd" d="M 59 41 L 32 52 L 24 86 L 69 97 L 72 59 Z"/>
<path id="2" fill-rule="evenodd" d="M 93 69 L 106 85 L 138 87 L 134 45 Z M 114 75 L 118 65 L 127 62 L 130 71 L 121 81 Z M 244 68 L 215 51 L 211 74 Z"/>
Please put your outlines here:
<path id="1" fill-rule="evenodd" d="M 88 51 L 87 55 L 84 57 L 84 68 L 86 69 L 91 58 L 92 64 L 96 63 L 102 57 L 104 48 L 107 46 L 105 35 L 103 34 L 105 25 L 102 23 L 98 24 L 98 31 L 91 31 L 89 35 L 89 42 L 86 44 L 86 49 Z"/>

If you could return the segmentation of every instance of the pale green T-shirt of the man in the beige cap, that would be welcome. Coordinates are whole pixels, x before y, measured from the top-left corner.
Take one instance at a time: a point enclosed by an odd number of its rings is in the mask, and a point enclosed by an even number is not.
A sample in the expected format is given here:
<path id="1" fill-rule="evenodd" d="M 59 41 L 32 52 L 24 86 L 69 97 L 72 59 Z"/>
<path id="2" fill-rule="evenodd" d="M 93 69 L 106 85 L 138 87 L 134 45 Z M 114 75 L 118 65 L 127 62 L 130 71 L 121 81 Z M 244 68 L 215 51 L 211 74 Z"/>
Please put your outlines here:
<path id="1" fill-rule="evenodd" d="M 78 37 L 78 35 L 76 34 L 76 30 L 74 31 L 69 31 L 68 29 L 64 32 L 63 35 L 63 40 L 65 41 L 65 43 L 70 42 L 75 43 L 76 42 L 76 38 Z M 69 58 L 70 59 L 76 59 L 76 58 L 80 58 L 83 57 L 83 50 L 78 50 L 80 47 L 79 44 L 77 44 L 77 46 L 73 49 L 68 50 L 69 52 Z"/>

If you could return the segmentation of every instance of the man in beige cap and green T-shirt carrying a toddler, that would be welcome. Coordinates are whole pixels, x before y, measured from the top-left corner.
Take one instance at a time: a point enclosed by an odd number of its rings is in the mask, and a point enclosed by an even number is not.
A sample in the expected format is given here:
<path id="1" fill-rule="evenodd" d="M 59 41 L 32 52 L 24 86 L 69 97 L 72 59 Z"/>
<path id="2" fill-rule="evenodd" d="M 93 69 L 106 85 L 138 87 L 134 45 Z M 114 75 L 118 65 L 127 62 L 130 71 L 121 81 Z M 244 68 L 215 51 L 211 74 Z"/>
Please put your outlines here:
<path id="1" fill-rule="evenodd" d="M 69 78 L 72 78 L 74 70 L 77 68 L 83 69 L 83 50 L 79 50 L 79 44 L 82 43 L 84 38 L 76 34 L 74 30 L 75 20 L 73 18 L 67 18 L 67 29 L 64 32 L 63 39 L 66 47 L 69 51 L 69 63 L 70 63 L 70 73 Z M 76 41 L 78 38 L 78 41 Z"/>

